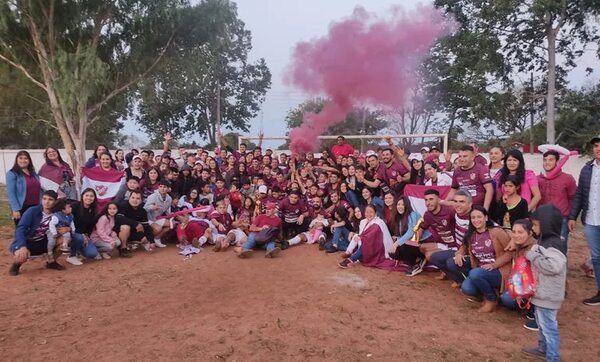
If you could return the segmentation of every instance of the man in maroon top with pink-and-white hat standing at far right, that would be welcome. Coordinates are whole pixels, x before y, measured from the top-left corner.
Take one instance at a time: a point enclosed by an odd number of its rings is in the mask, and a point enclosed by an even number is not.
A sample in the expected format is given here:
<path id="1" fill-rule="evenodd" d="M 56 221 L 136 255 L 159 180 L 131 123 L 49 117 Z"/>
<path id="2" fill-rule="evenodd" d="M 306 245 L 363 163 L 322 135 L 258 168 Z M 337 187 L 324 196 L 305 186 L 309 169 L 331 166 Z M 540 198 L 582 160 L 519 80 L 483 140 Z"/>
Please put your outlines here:
<path id="1" fill-rule="evenodd" d="M 542 195 L 538 207 L 546 204 L 558 207 L 563 215 L 563 226 L 560 235 L 567 243 L 569 240 L 569 213 L 577 192 L 577 183 L 575 183 L 573 176 L 564 173 L 562 170 L 558 170 L 558 173 L 552 175 L 552 177 L 548 176 L 556 171 L 559 160 L 560 154 L 557 151 L 550 150 L 544 153 L 544 171 L 538 175 L 538 184 Z"/>

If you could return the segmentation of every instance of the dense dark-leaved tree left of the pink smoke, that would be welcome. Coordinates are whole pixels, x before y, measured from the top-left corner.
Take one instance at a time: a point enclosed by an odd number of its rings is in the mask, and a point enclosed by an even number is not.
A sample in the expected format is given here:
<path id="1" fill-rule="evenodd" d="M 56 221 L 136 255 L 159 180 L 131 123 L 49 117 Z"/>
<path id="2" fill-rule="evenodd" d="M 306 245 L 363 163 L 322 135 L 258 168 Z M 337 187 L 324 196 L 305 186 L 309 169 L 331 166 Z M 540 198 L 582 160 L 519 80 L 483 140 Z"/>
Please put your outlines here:
<path id="1" fill-rule="evenodd" d="M 138 123 L 153 139 L 170 131 L 175 138 L 200 135 L 214 145 L 219 127 L 247 132 L 270 88 L 264 59 L 248 62 L 251 34 L 236 5 L 209 0 L 198 7 L 212 29 L 209 40 L 182 50 L 139 92 Z"/>

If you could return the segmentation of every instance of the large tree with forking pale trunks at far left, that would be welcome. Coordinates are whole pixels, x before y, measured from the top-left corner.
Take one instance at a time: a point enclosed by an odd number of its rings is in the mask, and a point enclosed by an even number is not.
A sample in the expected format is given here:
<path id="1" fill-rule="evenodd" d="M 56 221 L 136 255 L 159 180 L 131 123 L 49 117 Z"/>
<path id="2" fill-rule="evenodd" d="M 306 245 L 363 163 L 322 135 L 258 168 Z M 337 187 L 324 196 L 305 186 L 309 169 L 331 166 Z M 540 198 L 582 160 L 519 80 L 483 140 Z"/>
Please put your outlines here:
<path id="1" fill-rule="evenodd" d="M 126 106 L 171 45 L 196 40 L 187 2 L 26 1 L 0 5 L 0 61 L 40 88 L 76 170 L 90 128 Z M 194 25 L 195 26 L 195 25 Z M 181 37 L 186 35 L 186 37 Z"/>

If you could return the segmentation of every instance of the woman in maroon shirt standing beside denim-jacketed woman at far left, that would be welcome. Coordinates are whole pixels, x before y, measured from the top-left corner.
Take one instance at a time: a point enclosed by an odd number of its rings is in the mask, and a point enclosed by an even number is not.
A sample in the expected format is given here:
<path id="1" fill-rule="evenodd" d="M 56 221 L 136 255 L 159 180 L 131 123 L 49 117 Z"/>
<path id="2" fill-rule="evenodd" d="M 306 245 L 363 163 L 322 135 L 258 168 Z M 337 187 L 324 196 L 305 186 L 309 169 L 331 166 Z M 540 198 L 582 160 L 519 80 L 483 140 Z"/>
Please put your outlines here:
<path id="1" fill-rule="evenodd" d="M 63 161 L 58 149 L 54 147 L 46 148 L 44 159 L 46 162 L 39 172 L 42 190 L 56 191 L 59 199 L 75 200 L 77 194 L 71 166 Z"/>

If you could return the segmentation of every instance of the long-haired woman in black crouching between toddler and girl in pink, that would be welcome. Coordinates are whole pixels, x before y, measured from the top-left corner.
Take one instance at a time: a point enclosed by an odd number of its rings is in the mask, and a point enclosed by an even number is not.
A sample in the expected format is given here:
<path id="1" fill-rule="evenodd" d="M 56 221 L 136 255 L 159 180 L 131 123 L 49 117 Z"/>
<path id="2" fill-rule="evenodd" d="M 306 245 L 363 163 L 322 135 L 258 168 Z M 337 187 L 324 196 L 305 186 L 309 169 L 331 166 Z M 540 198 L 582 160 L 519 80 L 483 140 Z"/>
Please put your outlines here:
<path id="1" fill-rule="evenodd" d="M 71 253 L 69 256 L 75 257 L 77 254 L 81 254 L 85 258 L 97 258 L 98 250 L 90 240 L 90 235 L 92 235 L 96 227 L 96 221 L 98 220 L 96 217 L 98 207 L 96 191 L 91 188 L 83 190 L 81 201 L 74 202 L 72 206 L 75 233 L 83 235 L 83 240 L 71 243 Z"/>

